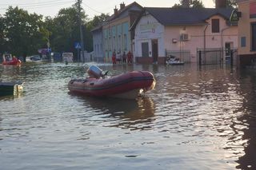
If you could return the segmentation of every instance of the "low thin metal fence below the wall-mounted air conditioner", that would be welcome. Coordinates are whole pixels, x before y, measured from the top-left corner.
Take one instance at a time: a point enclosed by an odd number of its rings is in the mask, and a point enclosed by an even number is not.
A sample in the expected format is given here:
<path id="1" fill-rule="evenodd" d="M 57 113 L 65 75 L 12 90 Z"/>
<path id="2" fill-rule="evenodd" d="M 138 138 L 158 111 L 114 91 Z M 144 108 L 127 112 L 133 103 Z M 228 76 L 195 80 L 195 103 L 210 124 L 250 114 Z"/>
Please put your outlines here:
<path id="1" fill-rule="evenodd" d="M 166 50 L 166 57 L 175 57 L 183 62 L 190 62 L 190 50 L 171 51 Z"/>

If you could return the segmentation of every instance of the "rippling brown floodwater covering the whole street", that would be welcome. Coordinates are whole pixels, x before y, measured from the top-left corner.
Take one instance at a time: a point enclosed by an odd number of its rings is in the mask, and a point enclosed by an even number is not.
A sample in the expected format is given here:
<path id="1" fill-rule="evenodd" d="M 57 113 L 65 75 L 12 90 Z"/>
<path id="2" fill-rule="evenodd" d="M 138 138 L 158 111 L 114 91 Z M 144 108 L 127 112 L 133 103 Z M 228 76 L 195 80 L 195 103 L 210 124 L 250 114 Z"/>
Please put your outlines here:
<path id="1" fill-rule="evenodd" d="M 157 84 L 136 101 L 79 97 L 67 83 L 82 64 L 0 65 L 2 81 L 25 82 L 0 97 L 2 170 L 256 168 L 256 70 L 98 67 L 149 70 Z"/>

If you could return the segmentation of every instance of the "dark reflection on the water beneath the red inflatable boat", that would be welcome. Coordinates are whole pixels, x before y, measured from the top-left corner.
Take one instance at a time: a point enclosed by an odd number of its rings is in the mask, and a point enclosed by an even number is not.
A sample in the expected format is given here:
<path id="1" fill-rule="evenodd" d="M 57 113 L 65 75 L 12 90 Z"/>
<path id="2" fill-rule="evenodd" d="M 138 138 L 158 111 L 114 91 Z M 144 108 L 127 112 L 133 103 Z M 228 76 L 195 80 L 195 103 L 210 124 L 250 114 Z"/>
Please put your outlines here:
<path id="1" fill-rule="evenodd" d="M 72 94 L 71 94 L 72 95 Z M 119 98 L 81 97 L 84 105 L 93 109 L 98 116 L 110 122 L 106 127 L 130 128 L 130 130 L 149 130 L 155 120 L 154 101 L 150 97 L 138 97 L 136 100 Z"/>

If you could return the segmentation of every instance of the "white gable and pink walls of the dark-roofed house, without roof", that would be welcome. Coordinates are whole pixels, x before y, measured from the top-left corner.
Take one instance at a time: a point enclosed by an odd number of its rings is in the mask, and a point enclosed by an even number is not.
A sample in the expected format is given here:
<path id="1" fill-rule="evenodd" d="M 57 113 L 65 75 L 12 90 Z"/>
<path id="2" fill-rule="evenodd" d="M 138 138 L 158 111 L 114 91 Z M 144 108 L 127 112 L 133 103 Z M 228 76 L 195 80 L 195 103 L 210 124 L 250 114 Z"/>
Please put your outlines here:
<path id="1" fill-rule="evenodd" d="M 212 19 L 219 19 L 219 33 L 212 33 Z M 190 58 L 186 61 L 191 62 L 197 61 L 197 49 L 224 49 L 226 42 L 231 43 L 232 48 L 238 48 L 238 26 L 228 26 L 226 20 L 218 15 L 206 22 L 208 24 L 198 26 L 162 26 L 154 17 L 147 14 L 140 19 L 135 28 L 134 56 L 142 57 L 143 42 L 148 42 L 149 50 L 152 51 L 152 39 L 158 39 L 158 57 L 166 57 L 166 51 L 180 51 L 190 53 Z M 181 41 L 181 34 L 188 34 L 188 40 Z M 149 57 L 152 57 L 152 53 Z"/>

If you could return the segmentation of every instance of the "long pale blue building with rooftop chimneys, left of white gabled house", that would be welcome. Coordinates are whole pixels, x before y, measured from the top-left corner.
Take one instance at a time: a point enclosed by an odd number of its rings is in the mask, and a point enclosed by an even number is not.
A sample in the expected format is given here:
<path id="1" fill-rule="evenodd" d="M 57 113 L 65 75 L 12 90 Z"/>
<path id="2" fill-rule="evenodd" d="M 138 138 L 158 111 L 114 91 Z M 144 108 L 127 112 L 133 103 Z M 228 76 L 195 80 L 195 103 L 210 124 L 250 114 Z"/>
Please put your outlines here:
<path id="1" fill-rule="evenodd" d="M 128 53 L 133 51 L 132 40 L 134 32 L 130 32 L 130 26 L 138 18 L 143 10 L 137 2 L 126 6 L 120 4 L 120 9 L 114 8 L 114 14 L 92 30 L 94 39 L 94 61 L 95 58 L 103 61 L 111 61 L 112 53 Z"/>

